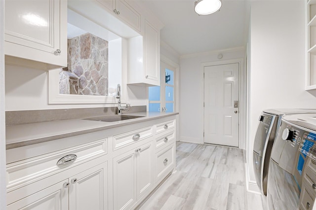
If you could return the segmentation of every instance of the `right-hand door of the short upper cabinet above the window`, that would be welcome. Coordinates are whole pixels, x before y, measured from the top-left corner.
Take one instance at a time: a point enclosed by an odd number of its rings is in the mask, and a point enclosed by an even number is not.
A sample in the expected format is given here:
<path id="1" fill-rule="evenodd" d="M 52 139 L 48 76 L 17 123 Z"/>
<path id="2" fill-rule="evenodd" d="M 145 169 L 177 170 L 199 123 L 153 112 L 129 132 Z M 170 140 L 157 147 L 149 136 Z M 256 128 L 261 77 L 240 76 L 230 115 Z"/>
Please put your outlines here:
<path id="1" fill-rule="evenodd" d="M 116 0 L 117 14 L 120 19 L 140 32 L 140 14 L 125 0 Z"/>

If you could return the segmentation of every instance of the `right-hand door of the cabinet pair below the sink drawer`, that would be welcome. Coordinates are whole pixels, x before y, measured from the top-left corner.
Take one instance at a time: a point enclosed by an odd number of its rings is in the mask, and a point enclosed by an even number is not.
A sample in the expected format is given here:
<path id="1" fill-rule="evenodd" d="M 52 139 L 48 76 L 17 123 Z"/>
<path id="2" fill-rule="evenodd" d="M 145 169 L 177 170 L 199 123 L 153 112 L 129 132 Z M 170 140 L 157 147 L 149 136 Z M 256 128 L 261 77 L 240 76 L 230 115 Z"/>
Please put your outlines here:
<path id="1" fill-rule="evenodd" d="M 137 152 L 137 200 L 146 194 L 152 186 L 152 142 L 140 147 Z"/>

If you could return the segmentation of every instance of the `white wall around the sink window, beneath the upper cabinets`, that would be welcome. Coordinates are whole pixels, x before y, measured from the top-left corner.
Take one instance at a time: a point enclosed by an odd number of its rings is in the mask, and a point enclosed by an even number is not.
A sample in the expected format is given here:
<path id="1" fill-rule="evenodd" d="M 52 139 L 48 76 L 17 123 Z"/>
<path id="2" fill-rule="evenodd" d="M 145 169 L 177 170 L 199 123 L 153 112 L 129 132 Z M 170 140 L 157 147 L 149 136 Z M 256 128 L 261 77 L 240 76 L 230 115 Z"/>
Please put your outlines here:
<path id="1" fill-rule="evenodd" d="M 122 103 L 147 105 L 146 87 L 127 86 L 126 40 L 122 40 Z M 111 79 L 111 78 L 110 78 Z M 104 104 L 49 105 L 48 71 L 5 65 L 5 110 L 104 107 Z M 111 105 L 115 106 L 115 105 Z"/>

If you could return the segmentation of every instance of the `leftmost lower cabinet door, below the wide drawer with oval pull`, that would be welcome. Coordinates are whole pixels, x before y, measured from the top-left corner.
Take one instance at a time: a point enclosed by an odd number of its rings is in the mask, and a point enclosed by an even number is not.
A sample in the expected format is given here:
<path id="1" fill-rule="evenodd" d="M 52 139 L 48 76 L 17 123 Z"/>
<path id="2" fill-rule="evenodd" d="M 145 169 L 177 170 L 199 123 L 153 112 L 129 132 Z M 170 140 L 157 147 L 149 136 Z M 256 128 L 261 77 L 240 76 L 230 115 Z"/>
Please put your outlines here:
<path id="1" fill-rule="evenodd" d="M 7 210 L 67 210 L 68 188 L 63 184 L 68 179 L 40 190 L 7 206 Z"/>

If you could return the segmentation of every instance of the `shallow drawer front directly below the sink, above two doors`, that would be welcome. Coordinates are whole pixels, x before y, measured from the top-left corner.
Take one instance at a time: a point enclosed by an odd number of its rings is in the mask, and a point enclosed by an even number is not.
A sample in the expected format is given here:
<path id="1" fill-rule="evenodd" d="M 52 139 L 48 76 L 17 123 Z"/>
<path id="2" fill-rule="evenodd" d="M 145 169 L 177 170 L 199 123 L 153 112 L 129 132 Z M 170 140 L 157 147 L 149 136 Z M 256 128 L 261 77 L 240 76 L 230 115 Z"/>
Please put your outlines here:
<path id="1" fill-rule="evenodd" d="M 113 150 L 133 144 L 153 136 L 153 127 L 147 127 L 113 137 Z"/>

